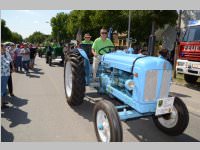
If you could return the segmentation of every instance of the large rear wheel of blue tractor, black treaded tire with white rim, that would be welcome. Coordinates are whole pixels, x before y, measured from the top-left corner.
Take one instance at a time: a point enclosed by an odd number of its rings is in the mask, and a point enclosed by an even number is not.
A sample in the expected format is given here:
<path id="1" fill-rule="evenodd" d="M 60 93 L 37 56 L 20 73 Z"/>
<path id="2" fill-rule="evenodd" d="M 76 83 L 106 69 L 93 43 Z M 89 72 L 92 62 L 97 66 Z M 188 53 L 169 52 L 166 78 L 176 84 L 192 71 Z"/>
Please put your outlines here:
<path id="1" fill-rule="evenodd" d="M 66 53 L 64 65 L 64 86 L 67 103 L 77 106 L 85 96 L 84 58 L 77 49 Z"/>

